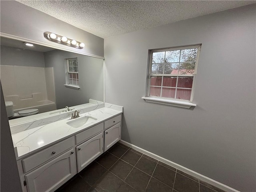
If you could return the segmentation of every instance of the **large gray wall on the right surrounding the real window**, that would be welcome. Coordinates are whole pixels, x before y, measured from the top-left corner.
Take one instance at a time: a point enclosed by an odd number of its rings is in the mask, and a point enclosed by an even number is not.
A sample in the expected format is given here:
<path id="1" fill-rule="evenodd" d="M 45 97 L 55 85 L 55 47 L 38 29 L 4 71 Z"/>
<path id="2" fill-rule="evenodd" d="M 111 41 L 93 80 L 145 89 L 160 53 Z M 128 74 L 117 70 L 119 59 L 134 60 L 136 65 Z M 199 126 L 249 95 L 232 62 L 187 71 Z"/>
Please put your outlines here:
<path id="1" fill-rule="evenodd" d="M 255 4 L 106 38 L 106 102 L 122 140 L 237 190 L 256 191 Z M 146 103 L 148 50 L 202 43 L 194 109 Z"/>

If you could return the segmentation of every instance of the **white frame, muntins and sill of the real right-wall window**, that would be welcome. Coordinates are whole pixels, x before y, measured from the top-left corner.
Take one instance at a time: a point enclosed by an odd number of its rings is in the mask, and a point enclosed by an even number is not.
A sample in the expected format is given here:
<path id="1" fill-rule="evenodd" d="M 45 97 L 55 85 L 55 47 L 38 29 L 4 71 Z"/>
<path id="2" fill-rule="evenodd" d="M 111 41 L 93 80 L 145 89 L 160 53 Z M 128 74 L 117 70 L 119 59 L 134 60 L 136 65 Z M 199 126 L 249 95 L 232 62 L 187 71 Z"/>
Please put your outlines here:
<path id="1" fill-rule="evenodd" d="M 173 51 L 173 50 L 192 49 L 192 48 L 198 48 L 194 74 L 152 74 L 152 59 L 153 59 L 153 53 L 154 52 L 165 52 L 165 51 Z M 194 87 L 195 87 L 195 82 L 196 82 L 196 73 L 197 73 L 197 68 L 198 68 L 198 60 L 199 60 L 199 56 L 200 56 L 200 51 L 201 51 L 201 44 L 196 44 L 196 45 L 192 45 L 192 46 L 179 46 L 179 47 L 172 47 L 172 48 L 165 48 L 165 49 L 149 50 L 150 55 L 149 55 L 148 74 L 147 74 L 147 76 L 148 76 L 147 77 L 147 91 L 146 91 L 146 96 L 142 97 L 142 99 L 144 99 L 146 102 L 153 102 L 153 103 L 158 103 L 158 104 L 178 106 L 178 107 L 183 107 L 183 108 L 190 108 L 191 106 L 195 107 L 196 104 L 194 104 L 192 102 L 193 102 L 193 97 L 194 97 Z M 170 62 L 170 63 L 177 63 L 177 62 Z M 179 63 L 180 63 L 180 61 L 179 61 Z M 163 64 L 166 64 L 166 63 L 163 63 Z M 163 88 L 162 85 L 163 85 L 164 76 L 177 77 L 176 87 L 173 87 L 176 90 L 177 90 L 177 84 L 178 84 L 178 77 L 192 77 L 193 76 L 190 100 L 188 101 L 188 100 L 181 100 L 181 99 L 175 99 L 175 98 L 164 98 L 164 97 L 161 97 L 161 96 L 160 97 L 150 96 L 150 80 L 151 80 L 151 77 L 157 77 L 157 76 L 162 77 L 161 86 L 155 86 L 155 87 L 161 87 L 161 94 L 162 94 L 162 88 Z M 170 88 L 170 87 L 168 87 L 168 88 Z M 186 88 L 182 88 L 182 89 L 186 89 Z M 175 95 L 176 95 L 176 92 L 177 91 L 175 91 Z"/>

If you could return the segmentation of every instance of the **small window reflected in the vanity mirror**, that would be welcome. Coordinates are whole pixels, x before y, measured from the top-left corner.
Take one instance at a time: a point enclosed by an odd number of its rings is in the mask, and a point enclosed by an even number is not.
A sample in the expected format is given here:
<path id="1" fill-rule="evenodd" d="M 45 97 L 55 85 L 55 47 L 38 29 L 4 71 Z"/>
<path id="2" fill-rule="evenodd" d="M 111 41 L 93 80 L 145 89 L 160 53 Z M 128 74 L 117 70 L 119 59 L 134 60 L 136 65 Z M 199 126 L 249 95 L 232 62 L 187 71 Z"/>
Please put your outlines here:
<path id="1" fill-rule="evenodd" d="M 66 87 L 79 89 L 77 58 L 67 59 Z"/>

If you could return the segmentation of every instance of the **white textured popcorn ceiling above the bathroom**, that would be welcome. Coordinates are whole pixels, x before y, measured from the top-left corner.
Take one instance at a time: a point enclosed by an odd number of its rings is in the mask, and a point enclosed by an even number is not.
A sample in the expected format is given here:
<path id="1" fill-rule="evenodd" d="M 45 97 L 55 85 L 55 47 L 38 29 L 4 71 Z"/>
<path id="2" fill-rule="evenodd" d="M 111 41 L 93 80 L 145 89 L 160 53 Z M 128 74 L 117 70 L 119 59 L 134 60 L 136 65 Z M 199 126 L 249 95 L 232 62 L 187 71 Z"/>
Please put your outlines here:
<path id="1" fill-rule="evenodd" d="M 256 1 L 18 0 L 77 28 L 107 38 L 236 8 Z"/>

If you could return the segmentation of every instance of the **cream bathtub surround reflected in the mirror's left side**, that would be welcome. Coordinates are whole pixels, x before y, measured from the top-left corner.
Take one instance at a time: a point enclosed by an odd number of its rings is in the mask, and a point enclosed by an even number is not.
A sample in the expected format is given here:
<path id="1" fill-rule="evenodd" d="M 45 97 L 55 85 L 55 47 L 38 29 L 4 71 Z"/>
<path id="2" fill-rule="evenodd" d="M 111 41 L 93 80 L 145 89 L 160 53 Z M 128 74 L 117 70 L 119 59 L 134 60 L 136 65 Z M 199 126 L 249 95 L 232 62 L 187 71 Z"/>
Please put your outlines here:
<path id="1" fill-rule="evenodd" d="M 40 113 L 56 110 L 53 68 L 4 64 L 1 61 L 4 99 L 14 103 L 14 112 L 32 108 L 38 108 Z"/>

